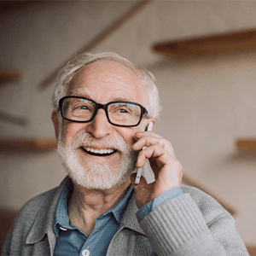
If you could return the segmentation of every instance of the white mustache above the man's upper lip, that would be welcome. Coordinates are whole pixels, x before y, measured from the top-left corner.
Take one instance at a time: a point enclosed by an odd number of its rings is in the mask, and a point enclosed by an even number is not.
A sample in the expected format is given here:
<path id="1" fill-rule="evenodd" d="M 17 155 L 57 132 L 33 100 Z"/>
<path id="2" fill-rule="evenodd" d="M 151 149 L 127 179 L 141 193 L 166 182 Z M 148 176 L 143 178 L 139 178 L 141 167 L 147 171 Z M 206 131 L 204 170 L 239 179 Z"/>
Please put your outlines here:
<path id="1" fill-rule="evenodd" d="M 97 139 L 89 132 L 80 131 L 76 136 L 73 137 L 71 146 L 74 149 L 80 147 L 98 147 L 113 148 L 120 152 L 131 152 L 131 146 L 125 142 L 125 139 L 121 137 L 118 132 Z"/>

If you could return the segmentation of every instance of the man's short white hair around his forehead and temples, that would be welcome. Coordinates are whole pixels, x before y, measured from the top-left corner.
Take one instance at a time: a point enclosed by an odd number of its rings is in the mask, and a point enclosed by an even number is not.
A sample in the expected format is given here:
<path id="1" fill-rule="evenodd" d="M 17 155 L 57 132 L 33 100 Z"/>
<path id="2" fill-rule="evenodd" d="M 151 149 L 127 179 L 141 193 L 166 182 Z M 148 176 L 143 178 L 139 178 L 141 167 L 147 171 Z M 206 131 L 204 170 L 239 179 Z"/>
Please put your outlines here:
<path id="1" fill-rule="evenodd" d="M 144 92 L 146 96 L 146 106 L 148 110 L 149 118 L 158 118 L 160 113 L 160 101 L 159 101 L 159 92 L 154 84 L 154 75 L 148 70 L 134 67 L 131 64 L 131 61 L 126 60 L 124 57 L 113 53 L 113 52 L 104 52 L 104 53 L 83 53 L 77 55 L 72 61 L 67 63 L 66 67 L 63 67 L 57 77 L 57 84 L 53 94 L 53 107 L 55 111 L 59 108 L 59 100 L 66 96 L 68 85 L 75 73 L 79 71 L 80 68 L 89 65 L 92 62 L 96 61 L 115 61 L 125 67 L 128 67 L 137 74 L 141 79 L 142 85 L 144 87 Z"/>

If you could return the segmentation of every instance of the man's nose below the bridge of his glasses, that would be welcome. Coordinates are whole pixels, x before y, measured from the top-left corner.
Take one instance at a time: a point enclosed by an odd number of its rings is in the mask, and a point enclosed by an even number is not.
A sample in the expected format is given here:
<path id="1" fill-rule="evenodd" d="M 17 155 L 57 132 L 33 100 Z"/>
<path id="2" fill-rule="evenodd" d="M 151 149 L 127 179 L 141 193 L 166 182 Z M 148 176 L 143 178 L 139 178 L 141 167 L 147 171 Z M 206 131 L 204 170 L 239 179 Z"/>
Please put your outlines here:
<path id="1" fill-rule="evenodd" d="M 94 119 L 88 123 L 86 128 L 87 132 L 90 132 L 96 138 L 102 138 L 107 136 L 111 130 L 113 129 L 113 125 L 109 124 L 107 115 L 104 109 L 98 109 L 96 116 Z"/>

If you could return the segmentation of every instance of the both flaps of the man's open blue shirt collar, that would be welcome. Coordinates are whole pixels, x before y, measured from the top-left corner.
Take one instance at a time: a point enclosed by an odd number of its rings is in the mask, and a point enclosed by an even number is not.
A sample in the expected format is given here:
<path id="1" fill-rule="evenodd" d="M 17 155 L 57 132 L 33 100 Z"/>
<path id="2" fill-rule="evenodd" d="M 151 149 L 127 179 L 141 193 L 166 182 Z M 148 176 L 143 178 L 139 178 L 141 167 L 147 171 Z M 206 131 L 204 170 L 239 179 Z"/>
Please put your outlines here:
<path id="1" fill-rule="evenodd" d="M 68 218 L 68 211 L 67 211 L 67 203 L 69 200 L 69 197 L 71 195 L 73 191 L 73 182 L 71 179 L 69 179 L 69 181 L 66 184 L 66 188 L 62 191 L 61 193 L 61 197 L 58 201 L 58 205 L 56 208 L 56 212 L 55 212 L 55 225 L 54 225 L 54 230 L 55 230 L 55 236 L 58 237 L 59 236 L 59 228 L 60 226 L 64 229 L 69 229 L 69 230 L 73 230 L 74 228 L 69 224 L 69 218 Z M 113 217 L 116 219 L 116 221 L 118 222 L 118 224 L 120 224 L 121 219 L 123 218 L 124 214 L 125 214 L 125 209 L 126 206 L 128 204 L 128 201 L 130 200 L 131 194 L 132 194 L 133 188 L 130 185 L 129 189 L 127 190 L 124 198 L 119 201 L 119 203 L 109 209 L 107 212 L 104 212 L 102 216 L 106 216 L 107 214 L 111 214 L 111 212 L 113 213 Z"/>

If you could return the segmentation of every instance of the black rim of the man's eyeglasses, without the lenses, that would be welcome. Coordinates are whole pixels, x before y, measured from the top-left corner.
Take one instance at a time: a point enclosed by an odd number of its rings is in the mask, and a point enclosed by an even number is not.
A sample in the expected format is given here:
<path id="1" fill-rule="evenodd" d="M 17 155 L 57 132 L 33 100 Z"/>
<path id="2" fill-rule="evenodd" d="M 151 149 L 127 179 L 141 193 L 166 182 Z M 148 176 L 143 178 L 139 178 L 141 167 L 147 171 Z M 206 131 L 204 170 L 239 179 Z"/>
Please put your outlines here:
<path id="1" fill-rule="evenodd" d="M 64 116 L 64 114 L 63 114 L 63 109 L 62 109 L 63 102 L 64 102 L 64 100 L 67 99 L 67 98 L 78 98 L 78 99 L 82 99 L 82 100 L 89 100 L 90 102 L 95 103 L 96 108 L 95 108 L 95 111 L 94 111 L 93 115 L 91 116 L 91 118 L 90 118 L 89 120 L 87 120 L 87 121 L 79 121 L 79 120 L 67 119 L 67 118 Z M 116 103 L 116 102 L 120 102 L 120 103 L 130 103 L 130 104 L 137 105 L 137 106 L 139 106 L 139 107 L 141 108 L 140 119 L 139 119 L 139 121 L 137 122 L 136 125 L 117 125 L 117 124 L 114 124 L 114 123 L 112 123 L 112 122 L 110 121 L 109 116 L 108 116 L 108 105 L 113 104 L 113 103 Z M 98 102 L 96 102 L 96 101 L 94 101 L 94 100 L 91 100 L 90 98 L 86 98 L 86 97 L 83 97 L 83 96 L 64 96 L 64 97 L 62 97 L 62 98 L 59 100 L 59 107 L 60 107 L 60 109 L 61 109 L 61 116 L 62 116 L 62 118 L 63 118 L 63 119 L 66 119 L 66 120 L 68 120 L 68 121 L 75 122 L 75 123 L 89 123 L 90 121 L 92 121 L 92 120 L 95 118 L 96 113 L 98 112 L 98 110 L 99 110 L 100 108 L 102 108 L 102 109 L 105 111 L 106 116 L 107 116 L 107 119 L 108 119 L 108 123 L 111 124 L 111 125 L 119 126 L 119 127 L 135 127 L 135 126 L 139 125 L 139 124 L 141 123 L 142 119 L 143 119 L 143 115 L 144 115 L 144 114 L 145 114 L 145 117 L 148 119 L 148 110 L 147 110 L 146 108 L 144 108 L 143 105 L 141 105 L 141 104 L 139 104 L 139 103 L 137 103 L 137 102 L 112 101 L 112 102 L 108 102 L 108 103 L 106 103 L 106 104 L 101 104 L 101 103 L 98 103 Z"/>

